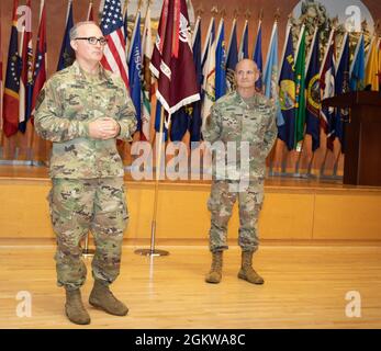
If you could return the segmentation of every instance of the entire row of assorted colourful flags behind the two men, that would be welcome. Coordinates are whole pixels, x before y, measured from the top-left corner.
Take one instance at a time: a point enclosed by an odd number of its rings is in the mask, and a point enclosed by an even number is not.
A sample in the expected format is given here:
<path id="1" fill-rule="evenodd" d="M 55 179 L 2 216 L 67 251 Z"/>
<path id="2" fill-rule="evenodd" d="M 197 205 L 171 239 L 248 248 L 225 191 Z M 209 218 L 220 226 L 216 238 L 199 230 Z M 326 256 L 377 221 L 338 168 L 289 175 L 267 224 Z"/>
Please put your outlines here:
<path id="1" fill-rule="evenodd" d="M 18 42 L 16 8 L 13 1 L 13 24 L 9 46 L 9 59 L 3 98 L 3 131 L 7 136 L 25 132 L 26 122 L 33 114 L 36 97 L 46 80 L 46 14 L 41 0 L 40 27 L 33 65 L 32 33 L 24 30 Z M 31 7 L 31 0 L 26 0 Z M 31 12 L 30 12 L 31 13 Z M 93 20 L 92 1 L 87 20 Z M 210 20 L 202 47 L 201 18 L 197 19 L 193 35 L 189 32 L 189 18 L 184 0 L 165 0 L 155 45 L 152 43 L 150 10 L 147 7 L 143 32 L 141 10 L 136 13 L 132 36 L 126 31 L 127 9 L 122 10 L 120 0 L 105 0 L 101 30 L 108 38 L 102 65 L 121 75 L 130 89 L 135 105 L 141 139 L 149 140 L 152 98 L 158 79 L 155 129 L 160 129 L 161 109 L 166 112 L 165 136 L 181 140 L 189 131 L 190 140 L 201 140 L 201 126 L 213 103 L 234 89 L 234 69 L 237 61 L 248 58 L 248 21 L 245 21 L 240 42 L 237 41 L 236 19 L 225 39 L 225 22 Z M 74 52 L 69 32 L 74 26 L 72 0 L 68 1 L 66 29 L 57 70 L 71 65 Z M 320 31 L 316 27 L 307 48 L 306 29 L 302 25 L 296 49 L 293 47 L 292 26 L 288 24 L 283 53 L 278 61 L 278 21 L 272 26 L 267 50 L 262 58 L 262 22 L 259 21 L 251 58 L 256 61 L 260 78 L 258 91 L 277 104 L 278 137 L 289 150 L 312 137 L 313 151 L 320 147 L 321 129 L 327 135 L 328 147 L 338 137 L 344 145 L 344 123 L 348 111 L 322 107 L 322 99 L 348 91 L 380 88 L 380 41 L 374 36 L 366 57 L 365 36 L 360 35 L 355 57 L 350 61 L 349 35 L 345 34 L 340 53 L 336 53 L 336 33 L 330 31 L 324 59 L 320 57 Z M 167 47 L 166 43 L 170 42 Z M 181 64 L 179 64 L 181 63 Z M 1 78 L 1 77 L 0 77 Z M 169 128 L 169 125 L 171 126 Z"/>

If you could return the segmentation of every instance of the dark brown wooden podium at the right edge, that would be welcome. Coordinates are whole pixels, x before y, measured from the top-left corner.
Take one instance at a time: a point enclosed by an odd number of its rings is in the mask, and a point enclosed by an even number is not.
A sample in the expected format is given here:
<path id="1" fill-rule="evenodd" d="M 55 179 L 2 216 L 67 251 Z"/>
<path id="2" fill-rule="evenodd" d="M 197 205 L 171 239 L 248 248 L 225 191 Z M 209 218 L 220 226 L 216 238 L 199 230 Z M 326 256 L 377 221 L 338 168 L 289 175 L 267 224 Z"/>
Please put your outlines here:
<path id="1" fill-rule="evenodd" d="M 345 124 L 344 184 L 381 186 L 381 93 L 350 92 L 322 103 L 350 109 Z"/>

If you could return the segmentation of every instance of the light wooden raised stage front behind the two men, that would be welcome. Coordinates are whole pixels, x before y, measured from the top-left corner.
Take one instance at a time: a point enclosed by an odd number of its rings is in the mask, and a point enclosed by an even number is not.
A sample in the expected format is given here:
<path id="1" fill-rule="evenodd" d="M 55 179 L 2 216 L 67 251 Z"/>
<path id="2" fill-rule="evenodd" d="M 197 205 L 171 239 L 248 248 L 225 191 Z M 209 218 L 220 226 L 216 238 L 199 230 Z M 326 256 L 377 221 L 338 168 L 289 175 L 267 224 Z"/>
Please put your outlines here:
<path id="1" fill-rule="evenodd" d="M 46 168 L 0 166 L 0 244 L 53 242 L 46 195 Z M 149 242 L 154 182 L 126 177 L 130 212 L 126 244 Z M 156 238 L 159 244 L 205 245 L 210 226 L 206 201 L 210 182 L 170 182 L 159 185 Z M 381 188 L 345 186 L 340 182 L 269 178 L 259 219 L 264 242 L 381 244 Z M 229 223 L 236 244 L 237 205 Z M 26 241 L 25 241 L 26 240 Z"/>

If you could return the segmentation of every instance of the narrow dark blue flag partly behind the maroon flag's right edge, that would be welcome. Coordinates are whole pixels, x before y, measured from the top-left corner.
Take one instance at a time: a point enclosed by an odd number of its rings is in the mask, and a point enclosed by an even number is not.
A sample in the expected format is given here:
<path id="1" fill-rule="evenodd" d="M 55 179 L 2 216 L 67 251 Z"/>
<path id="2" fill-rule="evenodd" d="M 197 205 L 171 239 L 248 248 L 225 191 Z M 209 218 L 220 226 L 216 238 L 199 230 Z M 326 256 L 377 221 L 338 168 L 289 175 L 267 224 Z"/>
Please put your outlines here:
<path id="1" fill-rule="evenodd" d="M 193 61 L 195 67 L 195 77 L 198 80 L 199 91 L 201 94 L 202 68 L 201 68 L 201 20 L 198 22 L 193 34 Z M 193 102 L 192 117 L 189 124 L 190 141 L 201 140 L 201 100 Z"/>

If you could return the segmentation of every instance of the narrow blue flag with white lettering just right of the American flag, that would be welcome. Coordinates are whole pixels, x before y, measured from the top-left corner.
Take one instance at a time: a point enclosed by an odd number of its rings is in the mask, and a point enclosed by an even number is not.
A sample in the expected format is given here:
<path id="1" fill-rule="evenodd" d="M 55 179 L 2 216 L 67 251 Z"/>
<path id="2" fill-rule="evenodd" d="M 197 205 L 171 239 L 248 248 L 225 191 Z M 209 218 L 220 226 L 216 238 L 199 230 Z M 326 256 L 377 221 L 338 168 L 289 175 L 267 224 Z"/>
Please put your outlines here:
<path id="1" fill-rule="evenodd" d="M 142 38 L 141 12 L 137 13 L 128 53 L 130 95 L 134 103 L 137 131 L 142 131 Z"/>

